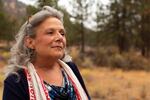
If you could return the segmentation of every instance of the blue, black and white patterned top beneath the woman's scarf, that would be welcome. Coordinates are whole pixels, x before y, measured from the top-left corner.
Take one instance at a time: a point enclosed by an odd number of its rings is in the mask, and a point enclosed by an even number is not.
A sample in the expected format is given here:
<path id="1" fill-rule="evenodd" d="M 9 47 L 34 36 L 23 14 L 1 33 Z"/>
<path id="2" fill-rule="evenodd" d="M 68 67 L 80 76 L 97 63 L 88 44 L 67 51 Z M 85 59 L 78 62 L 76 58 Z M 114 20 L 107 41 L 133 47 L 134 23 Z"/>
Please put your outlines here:
<path id="1" fill-rule="evenodd" d="M 51 100 L 77 100 L 73 85 L 68 79 L 68 75 L 63 69 L 61 71 L 63 75 L 63 86 L 54 86 L 44 82 L 49 91 Z"/>

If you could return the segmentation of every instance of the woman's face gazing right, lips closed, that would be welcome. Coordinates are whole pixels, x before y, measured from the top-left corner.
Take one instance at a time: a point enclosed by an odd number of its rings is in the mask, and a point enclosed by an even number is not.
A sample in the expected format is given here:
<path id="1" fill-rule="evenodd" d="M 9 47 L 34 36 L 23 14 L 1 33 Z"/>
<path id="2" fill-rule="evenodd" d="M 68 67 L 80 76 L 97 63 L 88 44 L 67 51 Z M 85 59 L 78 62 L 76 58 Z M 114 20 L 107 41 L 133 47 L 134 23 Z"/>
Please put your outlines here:
<path id="1" fill-rule="evenodd" d="M 64 55 L 66 37 L 63 23 L 59 19 L 49 17 L 35 31 L 33 47 L 36 57 L 59 59 Z"/>

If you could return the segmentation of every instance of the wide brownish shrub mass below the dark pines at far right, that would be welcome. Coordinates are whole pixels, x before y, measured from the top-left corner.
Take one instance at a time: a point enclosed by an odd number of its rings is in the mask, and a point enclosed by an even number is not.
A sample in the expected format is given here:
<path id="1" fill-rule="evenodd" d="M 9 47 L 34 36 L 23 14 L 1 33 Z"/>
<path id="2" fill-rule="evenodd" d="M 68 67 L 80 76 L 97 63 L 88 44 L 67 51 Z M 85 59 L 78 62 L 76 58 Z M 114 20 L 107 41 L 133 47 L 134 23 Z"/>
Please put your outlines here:
<path id="1" fill-rule="evenodd" d="M 93 60 L 98 66 L 109 66 L 124 70 L 150 70 L 150 60 L 143 57 L 140 52 L 132 50 L 120 54 L 117 49 L 99 47 Z"/>

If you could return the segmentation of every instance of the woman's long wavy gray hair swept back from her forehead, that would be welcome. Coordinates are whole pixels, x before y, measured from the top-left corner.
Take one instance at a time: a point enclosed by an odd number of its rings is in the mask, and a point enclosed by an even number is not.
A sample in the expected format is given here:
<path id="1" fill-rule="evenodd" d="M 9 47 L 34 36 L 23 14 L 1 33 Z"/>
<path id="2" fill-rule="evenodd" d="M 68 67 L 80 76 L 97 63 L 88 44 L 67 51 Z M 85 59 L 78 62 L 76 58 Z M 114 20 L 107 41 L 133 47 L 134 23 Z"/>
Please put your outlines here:
<path id="1" fill-rule="evenodd" d="M 63 22 L 63 14 L 60 11 L 49 6 L 44 6 L 42 10 L 31 16 L 31 18 L 29 18 L 29 20 L 21 26 L 18 34 L 16 35 L 16 43 L 11 48 L 11 57 L 8 62 L 7 75 L 23 68 L 24 65 L 31 61 L 33 50 L 24 45 L 24 38 L 25 36 L 35 37 L 34 28 L 48 17 L 56 17 Z M 63 60 L 65 62 L 71 60 L 70 56 L 67 55 L 66 52 Z"/>

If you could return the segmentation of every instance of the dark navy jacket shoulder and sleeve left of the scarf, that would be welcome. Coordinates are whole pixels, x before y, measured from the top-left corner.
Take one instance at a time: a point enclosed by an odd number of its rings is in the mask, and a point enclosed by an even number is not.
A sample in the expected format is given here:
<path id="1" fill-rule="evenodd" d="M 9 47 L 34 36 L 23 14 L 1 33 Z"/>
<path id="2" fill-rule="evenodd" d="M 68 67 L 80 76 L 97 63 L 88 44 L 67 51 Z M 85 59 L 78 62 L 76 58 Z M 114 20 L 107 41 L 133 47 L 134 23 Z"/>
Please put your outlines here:
<path id="1" fill-rule="evenodd" d="M 4 80 L 3 100 L 28 100 L 28 83 L 23 69 Z"/>

